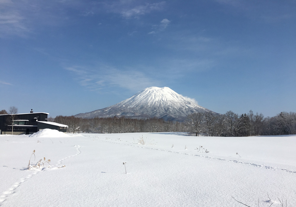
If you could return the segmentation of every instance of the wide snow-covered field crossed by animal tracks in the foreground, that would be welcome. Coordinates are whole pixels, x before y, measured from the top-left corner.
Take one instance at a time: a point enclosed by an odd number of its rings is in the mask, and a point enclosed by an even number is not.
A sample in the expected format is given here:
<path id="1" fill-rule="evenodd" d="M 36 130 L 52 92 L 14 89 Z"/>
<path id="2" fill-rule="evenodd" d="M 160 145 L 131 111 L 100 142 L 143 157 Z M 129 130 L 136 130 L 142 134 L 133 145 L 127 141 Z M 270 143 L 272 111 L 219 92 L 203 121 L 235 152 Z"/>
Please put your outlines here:
<path id="1" fill-rule="evenodd" d="M 296 135 L 0 135 L 0 206 L 295 206 L 295 147 Z M 28 170 L 30 157 L 51 167 Z"/>

